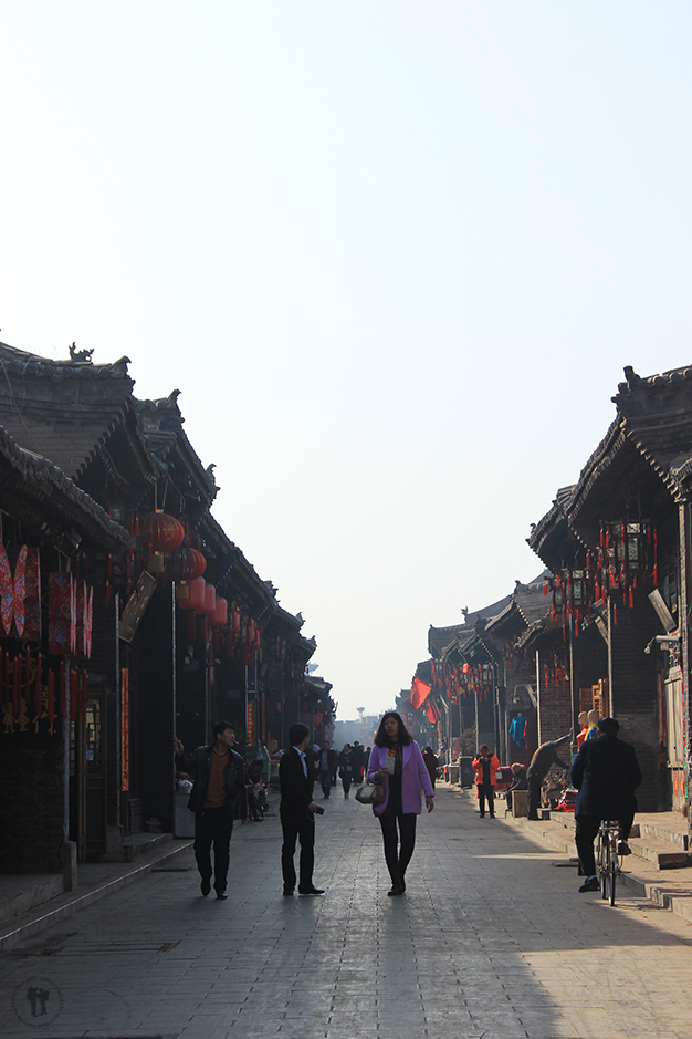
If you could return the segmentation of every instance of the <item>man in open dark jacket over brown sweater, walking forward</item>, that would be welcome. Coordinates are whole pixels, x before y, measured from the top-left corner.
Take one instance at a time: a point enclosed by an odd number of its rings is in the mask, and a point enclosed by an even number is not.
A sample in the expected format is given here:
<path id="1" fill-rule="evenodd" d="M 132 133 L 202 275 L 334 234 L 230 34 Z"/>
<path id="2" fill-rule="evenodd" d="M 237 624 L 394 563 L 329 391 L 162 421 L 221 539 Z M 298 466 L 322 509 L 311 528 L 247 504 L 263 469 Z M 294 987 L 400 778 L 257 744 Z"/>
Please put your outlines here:
<path id="1" fill-rule="evenodd" d="M 211 845 L 213 844 L 213 887 L 217 898 L 226 900 L 231 834 L 235 806 L 244 789 L 244 762 L 233 750 L 235 729 L 230 721 L 217 721 L 213 742 L 198 747 L 184 758 L 186 771 L 195 785 L 188 808 L 195 812 L 195 858 L 201 876 L 205 898 L 211 891 Z M 176 741 L 176 754 L 185 748 Z"/>

